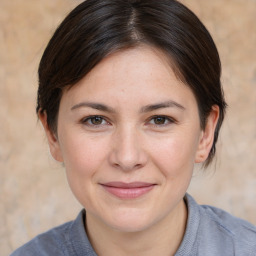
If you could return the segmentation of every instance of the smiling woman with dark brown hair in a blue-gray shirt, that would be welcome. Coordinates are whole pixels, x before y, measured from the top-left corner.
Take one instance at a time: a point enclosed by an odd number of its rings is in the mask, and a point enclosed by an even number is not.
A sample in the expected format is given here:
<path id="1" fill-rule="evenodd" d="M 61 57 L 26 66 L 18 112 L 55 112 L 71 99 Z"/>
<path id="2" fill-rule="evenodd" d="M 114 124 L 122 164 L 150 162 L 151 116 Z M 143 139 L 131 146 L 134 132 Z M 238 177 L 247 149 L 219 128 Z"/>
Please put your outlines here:
<path id="1" fill-rule="evenodd" d="M 87 0 L 39 66 L 37 113 L 85 210 L 12 255 L 256 255 L 256 228 L 186 194 L 226 103 L 215 44 L 174 0 Z"/>

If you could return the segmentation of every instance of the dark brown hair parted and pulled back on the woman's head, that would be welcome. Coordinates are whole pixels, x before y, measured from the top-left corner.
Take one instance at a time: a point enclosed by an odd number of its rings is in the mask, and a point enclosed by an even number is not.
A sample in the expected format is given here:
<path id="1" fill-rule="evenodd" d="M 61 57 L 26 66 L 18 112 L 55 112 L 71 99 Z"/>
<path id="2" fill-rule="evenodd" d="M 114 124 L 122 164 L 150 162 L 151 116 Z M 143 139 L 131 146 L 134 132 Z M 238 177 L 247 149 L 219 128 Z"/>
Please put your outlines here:
<path id="1" fill-rule="evenodd" d="M 187 7 L 175 0 L 87 0 L 64 19 L 49 41 L 39 65 L 37 113 L 45 111 L 57 132 L 64 88 L 81 80 L 107 55 L 138 44 L 161 49 L 193 91 L 201 128 L 213 105 L 220 116 L 207 166 L 214 154 L 226 103 L 221 63 L 212 37 Z"/>

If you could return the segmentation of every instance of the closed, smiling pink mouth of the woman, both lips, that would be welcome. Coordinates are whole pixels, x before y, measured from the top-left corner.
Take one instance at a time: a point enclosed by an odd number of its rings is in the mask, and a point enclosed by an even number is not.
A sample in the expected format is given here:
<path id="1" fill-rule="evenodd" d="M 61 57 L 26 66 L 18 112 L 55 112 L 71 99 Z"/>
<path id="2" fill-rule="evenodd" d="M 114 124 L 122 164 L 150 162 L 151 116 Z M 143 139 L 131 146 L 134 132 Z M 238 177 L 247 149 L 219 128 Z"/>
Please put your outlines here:
<path id="1" fill-rule="evenodd" d="M 135 199 L 150 192 L 156 184 L 146 182 L 108 182 L 100 184 L 108 193 L 120 199 Z"/>

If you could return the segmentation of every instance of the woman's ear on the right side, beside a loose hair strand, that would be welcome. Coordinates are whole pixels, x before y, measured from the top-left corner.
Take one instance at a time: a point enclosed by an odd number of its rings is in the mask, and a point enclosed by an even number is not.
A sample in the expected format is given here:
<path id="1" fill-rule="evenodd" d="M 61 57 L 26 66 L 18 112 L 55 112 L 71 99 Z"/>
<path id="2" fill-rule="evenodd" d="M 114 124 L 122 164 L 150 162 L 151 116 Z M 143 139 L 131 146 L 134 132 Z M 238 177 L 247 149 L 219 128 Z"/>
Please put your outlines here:
<path id="1" fill-rule="evenodd" d="M 205 129 L 201 132 L 195 163 L 202 163 L 207 159 L 214 141 L 214 133 L 218 119 L 219 106 L 214 105 L 206 120 Z"/>

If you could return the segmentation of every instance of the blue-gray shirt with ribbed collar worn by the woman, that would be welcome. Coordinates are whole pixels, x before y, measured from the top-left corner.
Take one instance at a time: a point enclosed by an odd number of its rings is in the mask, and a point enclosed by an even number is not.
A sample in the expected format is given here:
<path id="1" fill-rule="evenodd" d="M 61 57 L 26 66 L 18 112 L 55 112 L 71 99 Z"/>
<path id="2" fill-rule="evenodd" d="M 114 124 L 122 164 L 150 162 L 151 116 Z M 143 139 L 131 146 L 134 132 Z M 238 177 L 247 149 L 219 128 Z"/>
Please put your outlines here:
<path id="1" fill-rule="evenodd" d="M 198 205 L 188 194 L 188 222 L 175 256 L 256 256 L 256 227 L 218 208 Z M 84 228 L 85 211 L 76 220 L 43 233 L 11 256 L 96 256 Z M 171 242 L 171 241 L 170 241 Z"/>

